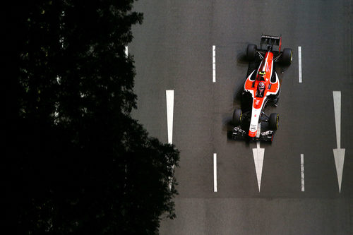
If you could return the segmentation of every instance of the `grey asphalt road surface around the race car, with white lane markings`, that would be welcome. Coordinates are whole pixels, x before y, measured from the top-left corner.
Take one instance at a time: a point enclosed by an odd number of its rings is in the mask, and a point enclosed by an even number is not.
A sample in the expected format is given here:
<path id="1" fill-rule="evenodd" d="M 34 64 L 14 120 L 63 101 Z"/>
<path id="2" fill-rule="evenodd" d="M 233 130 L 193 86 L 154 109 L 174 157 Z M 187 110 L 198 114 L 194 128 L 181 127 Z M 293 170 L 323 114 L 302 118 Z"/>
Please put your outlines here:
<path id="1" fill-rule="evenodd" d="M 128 45 L 137 72 L 133 116 L 167 143 L 166 90 L 174 90 L 172 142 L 181 151 L 177 218 L 163 219 L 160 234 L 353 234 L 352 5 L 136 3 L 144 22 Z M 282 35 L 282 48 L 294 53 L 289 68 L 277 69 L 278 107 L 265 109 L 280 114 L 272 145 L 227 138 L 248 69 L 246 46 L 262 33 Z"/>

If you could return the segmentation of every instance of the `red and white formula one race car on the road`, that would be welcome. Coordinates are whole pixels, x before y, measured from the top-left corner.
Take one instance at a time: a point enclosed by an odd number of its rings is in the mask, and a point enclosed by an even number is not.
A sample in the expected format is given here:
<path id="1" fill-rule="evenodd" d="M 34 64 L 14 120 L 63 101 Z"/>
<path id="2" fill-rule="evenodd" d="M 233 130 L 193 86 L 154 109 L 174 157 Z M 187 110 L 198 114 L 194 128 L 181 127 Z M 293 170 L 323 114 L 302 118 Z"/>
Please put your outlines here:
<path id="1" fill-rule="evenodd" d="M 292 49 L 285 48 L 281 52 L 281 44 L 282 37 L 262 35 L 260 49 L 255 44 L 247 47 L 249 70 L 241 95 L 241 109 L 233 113 L 234 140 L 273 140 L 280 117 L 276 113 L 268 116 L 263 110 L 270 103 L 277 107 L 280 80 L 275 71 L 276 63 L 289 66 L 292 62 Z M 267 48 L 263 49 L 263 45 Z"/>

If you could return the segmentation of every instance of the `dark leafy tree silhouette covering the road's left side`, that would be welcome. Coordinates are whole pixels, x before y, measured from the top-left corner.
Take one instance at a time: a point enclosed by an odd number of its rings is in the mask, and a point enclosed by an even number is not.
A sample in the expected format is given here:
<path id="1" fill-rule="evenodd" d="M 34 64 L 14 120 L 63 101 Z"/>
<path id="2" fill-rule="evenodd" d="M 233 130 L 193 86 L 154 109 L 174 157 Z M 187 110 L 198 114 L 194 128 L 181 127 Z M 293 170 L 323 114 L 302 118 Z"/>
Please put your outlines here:
<path id="1" fill-rule="evenodd" d="M 12 234 L 157 234 L 179 152 L 131 118 L 133 0 L 12 11 L 5 194 Z M 11 219 L 11 220 L 10 220 Z"/>

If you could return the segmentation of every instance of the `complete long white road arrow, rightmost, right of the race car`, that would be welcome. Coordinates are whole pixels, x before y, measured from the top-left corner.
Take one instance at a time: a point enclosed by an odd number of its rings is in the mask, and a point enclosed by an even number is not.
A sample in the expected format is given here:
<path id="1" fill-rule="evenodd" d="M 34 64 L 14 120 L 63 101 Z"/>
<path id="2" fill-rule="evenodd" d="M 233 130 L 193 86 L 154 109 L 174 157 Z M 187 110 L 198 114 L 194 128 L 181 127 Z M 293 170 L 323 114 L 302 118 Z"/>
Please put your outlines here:
<path id="1" fill-rule="evenodd" d="M 338 188 L 341 193 L 343 164 L 345 163 L 345 149 L 341 148 L 341 92 L 333 91 L 333 107 L 335 109 L 337 148 L 333 150 L 337 171 Z"/>

